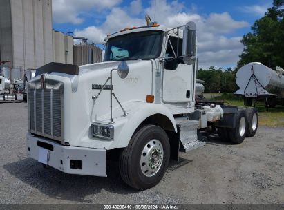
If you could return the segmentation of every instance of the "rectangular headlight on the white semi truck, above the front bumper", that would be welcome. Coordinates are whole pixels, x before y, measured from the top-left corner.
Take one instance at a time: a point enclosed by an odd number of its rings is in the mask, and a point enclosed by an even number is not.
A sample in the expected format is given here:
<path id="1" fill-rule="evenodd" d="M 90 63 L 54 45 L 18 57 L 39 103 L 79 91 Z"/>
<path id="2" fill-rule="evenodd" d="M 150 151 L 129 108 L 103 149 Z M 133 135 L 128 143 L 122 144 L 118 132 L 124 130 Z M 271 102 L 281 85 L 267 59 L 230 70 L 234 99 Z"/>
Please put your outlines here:
<path id="1" fill-rule="evenodd" d="M 99 137 L 105 140 L 113 140 L 114 127 L 108 124 L 93 123 L 91 131 L 94 137 Z"/>

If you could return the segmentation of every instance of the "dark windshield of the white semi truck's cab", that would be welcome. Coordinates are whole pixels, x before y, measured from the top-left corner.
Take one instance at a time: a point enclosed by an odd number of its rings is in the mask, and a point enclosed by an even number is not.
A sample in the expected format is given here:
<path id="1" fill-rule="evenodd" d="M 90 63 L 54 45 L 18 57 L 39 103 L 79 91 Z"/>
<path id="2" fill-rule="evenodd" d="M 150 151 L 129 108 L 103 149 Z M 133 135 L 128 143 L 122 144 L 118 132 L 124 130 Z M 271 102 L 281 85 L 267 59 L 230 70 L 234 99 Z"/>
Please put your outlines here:
<path id="1" fill-rule="evenodd" d="M 159 57 L 161 49 L 161 31 L 130 33 L 108 40 L 104 61 L 154 59 Z"/>

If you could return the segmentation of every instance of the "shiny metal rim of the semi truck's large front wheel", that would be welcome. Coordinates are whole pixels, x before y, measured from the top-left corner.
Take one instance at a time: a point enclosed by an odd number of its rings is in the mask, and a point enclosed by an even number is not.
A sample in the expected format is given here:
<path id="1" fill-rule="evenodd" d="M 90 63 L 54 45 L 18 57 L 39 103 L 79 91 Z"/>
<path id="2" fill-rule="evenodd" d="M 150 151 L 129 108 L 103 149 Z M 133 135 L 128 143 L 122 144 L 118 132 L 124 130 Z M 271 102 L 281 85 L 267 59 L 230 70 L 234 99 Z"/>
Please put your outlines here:
<path id="1" fill-rule="evenodd" d="M 144 175 L 151 177 L 158 173 L 164 159 L 164 149 L 159 140 L 150 140 L 141 153 L 140 168 Z"/>

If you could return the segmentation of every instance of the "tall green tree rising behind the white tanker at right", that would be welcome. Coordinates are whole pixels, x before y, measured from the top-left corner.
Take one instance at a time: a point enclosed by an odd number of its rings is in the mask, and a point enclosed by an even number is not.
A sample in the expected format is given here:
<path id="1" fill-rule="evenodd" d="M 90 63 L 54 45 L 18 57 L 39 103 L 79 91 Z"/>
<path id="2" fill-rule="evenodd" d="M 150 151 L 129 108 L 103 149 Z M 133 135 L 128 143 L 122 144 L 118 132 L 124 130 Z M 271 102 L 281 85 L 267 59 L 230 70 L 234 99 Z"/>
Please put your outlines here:
<path id="1" fill-rule="evenodd" d="M 252 32 L 243 36 L 245 46 L 238 68 L 259 61 L 265 66 L 284 67 L 284 0 L 274 0 L 264 17 L 255 21 Z"/>

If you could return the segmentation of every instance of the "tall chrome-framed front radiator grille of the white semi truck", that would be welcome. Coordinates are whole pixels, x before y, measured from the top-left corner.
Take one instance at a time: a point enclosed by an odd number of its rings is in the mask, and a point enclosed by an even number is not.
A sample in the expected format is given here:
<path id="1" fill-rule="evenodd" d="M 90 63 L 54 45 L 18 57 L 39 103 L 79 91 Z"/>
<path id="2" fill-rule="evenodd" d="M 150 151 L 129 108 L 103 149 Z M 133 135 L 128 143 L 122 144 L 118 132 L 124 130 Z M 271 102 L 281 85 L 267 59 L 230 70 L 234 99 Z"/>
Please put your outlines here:
<path id="1" fill-rule="evenodd" d="M 30 133 L 63 141 L 63 88 L 28 88 Z"/>

